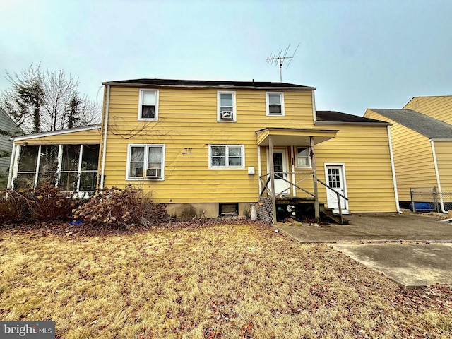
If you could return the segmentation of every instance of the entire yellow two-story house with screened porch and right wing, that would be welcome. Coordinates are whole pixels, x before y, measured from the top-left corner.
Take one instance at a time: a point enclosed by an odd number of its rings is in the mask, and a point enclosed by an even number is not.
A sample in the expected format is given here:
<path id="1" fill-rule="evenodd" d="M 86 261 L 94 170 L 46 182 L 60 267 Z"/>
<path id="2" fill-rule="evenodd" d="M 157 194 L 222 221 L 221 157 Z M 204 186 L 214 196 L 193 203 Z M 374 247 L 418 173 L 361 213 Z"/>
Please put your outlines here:
<path id="1" fill-rule="evenodd" d="M 243 215 L 259 201 L 261 215 L 274 220 L 288 197 L 311 201 L 316 216 L 319 202 L 342 213 L 398 210 L 389 124 L 317 112 L 315 88 L 165 79 L 103 85 L 100 125 L 16 138 L 10 184 L 50 179 L 73 191 L 137 184 L 174 215 L 189 205 L 206 217 Z"/>

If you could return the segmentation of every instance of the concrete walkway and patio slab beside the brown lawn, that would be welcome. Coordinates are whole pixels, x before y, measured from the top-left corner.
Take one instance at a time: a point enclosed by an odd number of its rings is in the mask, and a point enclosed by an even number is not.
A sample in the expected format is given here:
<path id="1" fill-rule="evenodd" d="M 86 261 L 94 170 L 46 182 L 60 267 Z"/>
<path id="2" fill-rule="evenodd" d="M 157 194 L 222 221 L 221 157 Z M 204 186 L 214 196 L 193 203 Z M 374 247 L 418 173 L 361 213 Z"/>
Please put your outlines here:
<path id="1" fill-rule="evenodd" d="M 452 223 L 419 215 L 350 215 L 350 225 L 277 227 L 299 242 L 324 242 L 404 287 L 452 284 Z"/>

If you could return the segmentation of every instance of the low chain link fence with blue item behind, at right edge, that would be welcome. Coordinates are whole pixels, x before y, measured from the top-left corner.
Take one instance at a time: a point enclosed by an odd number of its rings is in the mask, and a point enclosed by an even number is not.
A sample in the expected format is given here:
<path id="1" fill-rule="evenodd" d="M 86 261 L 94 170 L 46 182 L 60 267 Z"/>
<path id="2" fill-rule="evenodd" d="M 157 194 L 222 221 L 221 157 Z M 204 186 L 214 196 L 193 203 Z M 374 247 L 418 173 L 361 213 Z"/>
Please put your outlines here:
<path id="1" fill-rule="evenodd" d="M 440 192 L 436 187 L 416 187 L 410 189 L 413 212 L 446 213 L 452 210 L 452 192 Z"/>

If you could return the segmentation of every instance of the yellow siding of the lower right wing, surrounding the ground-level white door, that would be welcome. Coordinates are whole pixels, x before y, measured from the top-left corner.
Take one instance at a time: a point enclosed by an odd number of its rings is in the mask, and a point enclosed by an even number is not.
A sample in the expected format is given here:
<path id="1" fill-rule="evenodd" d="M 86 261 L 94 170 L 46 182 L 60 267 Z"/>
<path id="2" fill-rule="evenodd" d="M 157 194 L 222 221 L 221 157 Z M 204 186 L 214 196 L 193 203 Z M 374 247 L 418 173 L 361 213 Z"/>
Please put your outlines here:
<path id="1" fill-rule="evenodd" d="M 396 210 L 386 126 L 340 126 L 335 138 L 316 145 L 315 150 L 317 177 L 321 181 L 326 182 L 326 162 L 345 165 L 352 212 Z M 319 200 L 326 201 L 326 187 L 321 184 Z"/>

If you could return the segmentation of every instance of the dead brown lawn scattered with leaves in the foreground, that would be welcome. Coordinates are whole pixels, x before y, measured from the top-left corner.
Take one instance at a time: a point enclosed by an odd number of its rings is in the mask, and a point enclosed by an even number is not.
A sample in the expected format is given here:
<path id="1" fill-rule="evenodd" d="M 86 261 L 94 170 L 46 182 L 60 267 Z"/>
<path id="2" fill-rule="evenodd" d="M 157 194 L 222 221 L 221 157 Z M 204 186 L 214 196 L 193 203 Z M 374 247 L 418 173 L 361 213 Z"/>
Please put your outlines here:
<path id="1" fill-rule="evenodd" d="M 451 292 L 258 224 L 0 231 L 0 320 L 53 320 L 57 338 L 450 338 Z"/>

